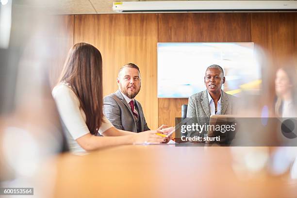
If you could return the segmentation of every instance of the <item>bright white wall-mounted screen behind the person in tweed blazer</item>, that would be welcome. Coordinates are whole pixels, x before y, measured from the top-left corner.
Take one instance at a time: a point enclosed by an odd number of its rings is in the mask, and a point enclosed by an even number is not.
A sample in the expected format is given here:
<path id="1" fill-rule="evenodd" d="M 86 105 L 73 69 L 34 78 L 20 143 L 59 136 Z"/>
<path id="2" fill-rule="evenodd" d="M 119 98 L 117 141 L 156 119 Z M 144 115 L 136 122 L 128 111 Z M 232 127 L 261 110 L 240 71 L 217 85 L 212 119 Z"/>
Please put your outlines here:
<path id="1" fill-rule="evenodd" d="M 205 70 L 211 65 L 223 68 L 225 92 L 259 91 L 254 43 L 158 43 L 158 98 L 188 98 L 205 90 Z"/>

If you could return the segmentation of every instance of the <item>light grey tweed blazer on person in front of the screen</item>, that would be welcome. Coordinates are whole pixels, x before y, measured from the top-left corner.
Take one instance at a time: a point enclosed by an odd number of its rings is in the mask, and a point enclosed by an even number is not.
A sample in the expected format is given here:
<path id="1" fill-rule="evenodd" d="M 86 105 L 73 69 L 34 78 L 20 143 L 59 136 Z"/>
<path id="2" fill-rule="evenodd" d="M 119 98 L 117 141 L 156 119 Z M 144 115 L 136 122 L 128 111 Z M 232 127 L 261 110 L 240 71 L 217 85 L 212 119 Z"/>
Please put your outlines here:
<path id="1" fill-rule="evenodd" d="M 221 115 L 235 114 L 235 103 L 236 97 L 227 94 L 222 90 L 221 98 Z M 195 117 L 192 122 L 197 122 L 198 124 L 208 124 L 209 117 L 211 116 L 209 100 L 207 95 L 207 89 L 201 91 L 197 94 L 192 95 L 188 101 L 187 117 Z M 191 123 L 187 123 L 191 124 Z M 188 132 L 187 136 L 193 136 L 191 132 Z"/>

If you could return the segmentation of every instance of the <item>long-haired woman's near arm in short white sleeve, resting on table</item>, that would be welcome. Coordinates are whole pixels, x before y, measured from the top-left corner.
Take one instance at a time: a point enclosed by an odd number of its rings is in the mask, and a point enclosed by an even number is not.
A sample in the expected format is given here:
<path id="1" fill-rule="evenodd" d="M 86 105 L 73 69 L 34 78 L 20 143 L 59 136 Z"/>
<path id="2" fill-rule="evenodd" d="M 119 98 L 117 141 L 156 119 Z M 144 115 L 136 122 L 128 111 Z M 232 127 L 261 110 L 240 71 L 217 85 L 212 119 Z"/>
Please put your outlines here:
<path id="1" fill-rule="evenodd" d="M 161 143 L 164 138 L 156 135 L 156 131 L 148 131 L 145 133 L 134 133 L 132 135 L 118 136 L 118 137 L 100 137 L 90 133 L 85 123 L 81 110 L 79 108 L 80 102 L 74 92 L 66 85 L 58 87 L 53 94 L 56 105 L 68 132 L 74 140 L 86 151 L 95 150 L 106 146 L 116 146 L 133 143 Z M 113 128 L 114 132 L 117 130 L 111 123 L 103 117 L 99 132 L 105 128 L 106 131 Z M 109 127 L 111 126 L 111 127 Z M 115 131 L 116 130 L 116 131 Z"/>

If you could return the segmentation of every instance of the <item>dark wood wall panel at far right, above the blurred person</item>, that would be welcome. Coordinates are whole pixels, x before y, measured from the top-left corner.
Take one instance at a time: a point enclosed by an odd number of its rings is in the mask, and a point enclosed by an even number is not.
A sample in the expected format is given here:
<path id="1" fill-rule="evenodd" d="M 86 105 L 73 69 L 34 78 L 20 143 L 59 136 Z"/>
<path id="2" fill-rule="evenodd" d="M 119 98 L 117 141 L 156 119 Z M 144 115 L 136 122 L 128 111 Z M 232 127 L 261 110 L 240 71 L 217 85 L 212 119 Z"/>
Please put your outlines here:
<path id="1" fill-rule="evenodd" d="M 275 73 L 297 56 L 297 13 L 252 13 L 251 40 L 260 47 L 263 99 L 271 113 L 275 99 Z"/>

